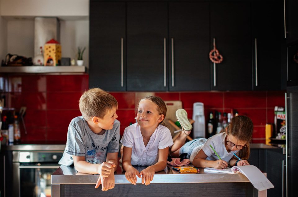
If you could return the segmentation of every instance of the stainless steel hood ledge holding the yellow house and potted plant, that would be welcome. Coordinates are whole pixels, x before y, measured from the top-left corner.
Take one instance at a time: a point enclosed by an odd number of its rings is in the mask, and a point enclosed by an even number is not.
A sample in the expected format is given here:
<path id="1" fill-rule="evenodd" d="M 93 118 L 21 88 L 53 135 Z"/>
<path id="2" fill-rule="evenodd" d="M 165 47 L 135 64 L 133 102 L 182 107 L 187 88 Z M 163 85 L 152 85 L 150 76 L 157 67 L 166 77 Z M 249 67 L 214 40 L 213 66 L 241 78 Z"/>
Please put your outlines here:
<path id="1" fill-rule="evenodd" d="M 2 66 L 0 73 L 85 72 L 85 66 Z"/>

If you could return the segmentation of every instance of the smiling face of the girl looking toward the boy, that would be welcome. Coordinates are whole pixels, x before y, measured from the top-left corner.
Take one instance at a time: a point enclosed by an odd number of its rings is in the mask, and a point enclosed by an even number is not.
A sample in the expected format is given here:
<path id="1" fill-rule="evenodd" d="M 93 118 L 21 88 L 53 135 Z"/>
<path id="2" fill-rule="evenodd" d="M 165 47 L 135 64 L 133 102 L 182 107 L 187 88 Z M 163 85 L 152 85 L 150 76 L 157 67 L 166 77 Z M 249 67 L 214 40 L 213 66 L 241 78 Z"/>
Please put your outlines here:
<path id="1" fill-rule="evenodd" d="M 164 118 L 164 115 L 159 115 L 156 104 L 145 99 L 139 103 L 137 121 L 141 128 L 155 129 Z"/>

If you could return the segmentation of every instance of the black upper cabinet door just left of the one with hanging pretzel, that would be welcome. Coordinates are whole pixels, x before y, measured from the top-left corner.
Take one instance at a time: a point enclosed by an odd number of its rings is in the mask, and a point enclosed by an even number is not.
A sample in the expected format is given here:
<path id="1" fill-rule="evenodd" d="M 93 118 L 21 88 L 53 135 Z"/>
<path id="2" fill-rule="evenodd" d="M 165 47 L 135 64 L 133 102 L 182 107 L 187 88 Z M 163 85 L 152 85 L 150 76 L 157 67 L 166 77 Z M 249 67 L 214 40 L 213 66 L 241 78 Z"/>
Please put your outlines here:
<path id="1" fill-rule="evenodd" d="M 209 3 L 169 3 L 169 90 L 210 90 Z"/>

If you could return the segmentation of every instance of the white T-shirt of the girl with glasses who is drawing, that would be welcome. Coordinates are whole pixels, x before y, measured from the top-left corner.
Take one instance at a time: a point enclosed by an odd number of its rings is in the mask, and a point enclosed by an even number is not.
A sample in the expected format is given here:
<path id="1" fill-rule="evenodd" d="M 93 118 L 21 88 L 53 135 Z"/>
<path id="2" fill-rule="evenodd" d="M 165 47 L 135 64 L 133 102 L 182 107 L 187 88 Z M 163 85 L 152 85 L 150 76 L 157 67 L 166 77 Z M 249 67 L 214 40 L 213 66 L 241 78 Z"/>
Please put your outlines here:
<path id="1" fill-rule="evenodd" d="M 224 133 L 216 134 L 207 140 L 207 142 L 205 143 L 205 145 L 202 148 L 204 153 L 208 156 L 206 158 L 206 160 L 213 160 L 213 161 L 219 160 L 217 155 L 214 153 L 214 151 L 210 147 L 210 144 L 211 144 L 211 146 L 217 152 L 219 157 L 222 160 L 225 160 L 226 162 L 229 163 L 229 161 L 233 157 L 233 153 L 236 154 L 238 151 L 230 151 L 230 152 L 227 151 L 227 149 L 225 147 L 226 136 L 227 136 L 227 134 L 224 132 Z"/>

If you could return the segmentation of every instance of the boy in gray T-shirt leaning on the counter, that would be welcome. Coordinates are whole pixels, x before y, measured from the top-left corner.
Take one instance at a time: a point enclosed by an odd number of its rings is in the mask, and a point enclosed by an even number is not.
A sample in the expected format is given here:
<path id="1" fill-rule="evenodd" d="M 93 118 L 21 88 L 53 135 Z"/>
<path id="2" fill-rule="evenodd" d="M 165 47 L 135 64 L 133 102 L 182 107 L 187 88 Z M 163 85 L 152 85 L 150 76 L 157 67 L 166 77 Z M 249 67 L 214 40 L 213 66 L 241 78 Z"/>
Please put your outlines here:
<path id="1" fill-rule="evenodd" d="M 62 165 L 75 165 L 81 173 L 100 174 L 95 188 L 114 188 L 117 169 L 120 122 L 116 110 L 118 102 L 111 94 L 99 88 L 83 93 L 79 100 L 82 116 L 71 120 L 68 126 Z"/>

